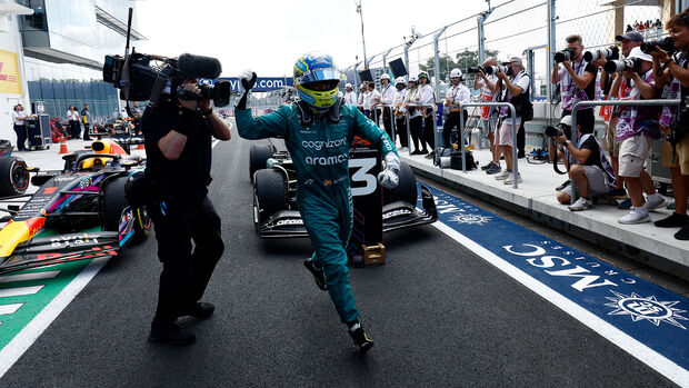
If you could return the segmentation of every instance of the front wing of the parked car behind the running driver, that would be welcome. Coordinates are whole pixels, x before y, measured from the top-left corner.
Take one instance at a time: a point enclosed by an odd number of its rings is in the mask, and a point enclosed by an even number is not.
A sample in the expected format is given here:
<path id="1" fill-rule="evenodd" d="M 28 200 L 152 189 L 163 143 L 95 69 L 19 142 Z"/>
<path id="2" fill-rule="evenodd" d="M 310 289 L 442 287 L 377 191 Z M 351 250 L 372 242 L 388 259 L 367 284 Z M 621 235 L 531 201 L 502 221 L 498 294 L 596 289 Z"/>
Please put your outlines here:
<path id="1" fill-rule="evenodd" d="M 382 230 L 383 232 L 405 228 L 418 227 L 432 223 L 438 220 L 438 210 L 433 195 L 428 187 L 421 186 L 422 210 L 417 209 L 412 203 L 397 201 L 388 203 L 382 208 Z M 280 210 L 270 216 L 258 227 L 261 238 L 294 238 L 309 237 L 301 215 L 297 210 Z"/>

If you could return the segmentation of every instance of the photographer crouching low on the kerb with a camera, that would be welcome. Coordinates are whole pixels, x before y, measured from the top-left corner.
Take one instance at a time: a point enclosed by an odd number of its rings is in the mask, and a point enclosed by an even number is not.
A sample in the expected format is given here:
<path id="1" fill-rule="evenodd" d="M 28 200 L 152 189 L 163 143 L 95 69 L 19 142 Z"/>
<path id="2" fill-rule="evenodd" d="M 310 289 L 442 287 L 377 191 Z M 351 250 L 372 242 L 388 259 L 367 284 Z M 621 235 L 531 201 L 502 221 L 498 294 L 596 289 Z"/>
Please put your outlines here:
<path id="1" fill-rule="evenodd" d="M 576 160 L 576 165 L 569 169 L 569 177 L 575 181 L 575 189 L 576 193 L 579 195 L 579 199 L 569 206 L 569 210 L 589 210 L 593 208 L 591 198 L 607 195 L 609 181 L 613 180 L 613 177 L 609 177 L 606 173 L 603 168 L 603 163 L 607 165 L 606 156 L 598 139 L 590 131 L 577 125 L 577 133 L 579 133 L 578 143 L 575 145 L 567 141 L 568 137 L 566 133 L 571 133 L 571 115 L 565 116 L 558 123 L 559 132 L 553 139 Z M 563 189 L 558 192 L 558 201 L 560 203 L 568 205 L 570 200 L 569 190 Z"/>

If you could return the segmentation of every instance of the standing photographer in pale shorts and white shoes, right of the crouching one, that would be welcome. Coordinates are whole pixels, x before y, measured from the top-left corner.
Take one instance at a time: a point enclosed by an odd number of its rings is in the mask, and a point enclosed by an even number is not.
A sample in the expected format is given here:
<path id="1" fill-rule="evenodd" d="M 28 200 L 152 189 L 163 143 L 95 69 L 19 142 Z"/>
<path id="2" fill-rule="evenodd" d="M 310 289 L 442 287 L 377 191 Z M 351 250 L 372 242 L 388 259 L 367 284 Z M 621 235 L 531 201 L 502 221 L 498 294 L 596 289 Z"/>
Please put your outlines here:
<path id="1" fill-rule="evenodd" d="M 629 59 L 638 64 L 635 64 L 635 68 L 627 67 L 615 78 L 610 97 L 629 100 L 655 98 L 651 56 L 641 52 L 637 47 L 630 51 Z M 620 223 L 650 222 L 648 211 L 666 205 L 665 198 L 656 192 L 650 176 L 643 169 L 653 140 L 660 138 L 658 113 L 658 107 L 623 107 L 619 111 L 615 132 L 615 140 L 620 142 L 618 177 L 625 179 L 631 200 L 631 211 L 618 220 Z M 646 202 L 643 192 L 647 193 Z"/>

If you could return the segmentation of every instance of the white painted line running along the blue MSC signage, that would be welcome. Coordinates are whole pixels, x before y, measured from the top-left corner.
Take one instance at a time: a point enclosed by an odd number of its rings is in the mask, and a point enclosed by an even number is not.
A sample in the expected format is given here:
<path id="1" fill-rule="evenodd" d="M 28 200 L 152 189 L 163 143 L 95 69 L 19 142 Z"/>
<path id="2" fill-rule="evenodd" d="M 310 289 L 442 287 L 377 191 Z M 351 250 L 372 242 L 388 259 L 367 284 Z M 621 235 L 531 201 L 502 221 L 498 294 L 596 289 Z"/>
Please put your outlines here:
<path id="1" fill-rule="evenodd" d="M 658 372 L 672 380 L 675 384 L 678 384 L 682 387 L 689 387 L 689 371 L 687 369 L 678 366 L 677 364 L 672 362 L 672 360 L 663 357 L 656 350 L 639 342 L 622 330 L 606 322 L 592 312 L 572 302 L 562 295 L 556 292 L 550 287 L 533 279 L 526 272 L 521 271 L 519 268 L 512 266 L 505 259 L 481 247 L 480 245 L 467 238 L 465 235 L 458 232 L 457 230 L 448 227 L 440 221 L 436 221 L 431 225 L 446 233 L 448 237 L 452 238 L 455 241 L 461 243 L 467 249 L 478 255 L 483 260 L 497 267 L 502 272 L 519 281 L 533 292 L 546 298 L 546 300 L 550 301 L 562 311 L 569 314 L 581 324 L 588 326 L 590 329 L 598 332 L 610 342 L 617 345 L 622 350 L 639 359 L 641 362 L 656 369 Z"/>

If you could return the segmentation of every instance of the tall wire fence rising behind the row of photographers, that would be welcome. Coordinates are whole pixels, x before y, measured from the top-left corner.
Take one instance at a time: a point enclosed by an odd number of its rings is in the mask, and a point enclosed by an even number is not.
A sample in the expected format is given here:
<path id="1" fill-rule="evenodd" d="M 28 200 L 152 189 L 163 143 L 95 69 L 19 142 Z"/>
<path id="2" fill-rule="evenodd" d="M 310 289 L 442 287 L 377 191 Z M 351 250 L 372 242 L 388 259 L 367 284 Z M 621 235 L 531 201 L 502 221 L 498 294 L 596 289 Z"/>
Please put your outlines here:
<path id="1" fill-rule="evenodd" d="M 431 79 L 439 80 L 440 99 L 452 68 L 466 71 L 479 64 L 479 58 L 489 56 L 496 56 L 499 61 L 521 56 L 532 74 L 533 97 L 540 99 L 547 96 L 548 62 L 552 62 L 552 52 L 566 47 L 566 37 L 580 34 L 585 50 L 619 43 L 615 37 L 628 30 L 639 31 L 646 40 L 658 39 L 667 34 L 663 26 L 676 12 L 675 4 L 672 0 L 503 1 L 486 12 L 483 19 L 480 13 L 468 16 L 435 31 L 422 31 L 423 34 L 416 40 L 413 36 L 407 37 L 406 42 L 371 56 L 368 68 L 373 70 L 378 81 L 382 71 L 389 71 L 390 61 L 401 58 L 410 73 L 428 71 Z M 548 20 L 549 7 L 553 9 L 551 22 Z M 479 47 L 481 27 L 483 50 Z M 555 33 L 552 43 L 549 42 L 551 29 Z M 436 38 L 438 56 L 435 52 Z M 408 47 L 406 56 L 409 41 L 413 43 Z M 436 77 L 436 62 L 440 77 Z M 365 63 L 350 64 L 346 68 L 348 78 L 352 80 L 358 77 L 353 70 L 365 68 Z M 471 74 L 465 77 L 468 87 L 472 80 Z M 357 78 L 356 82 L 360 84 L 361 81 Z"/>

